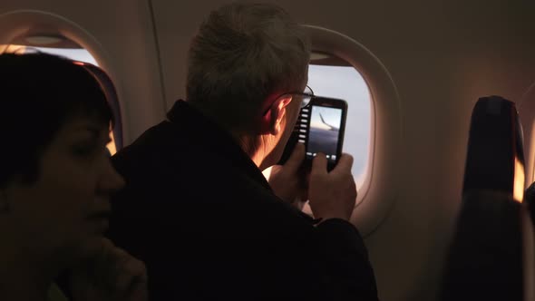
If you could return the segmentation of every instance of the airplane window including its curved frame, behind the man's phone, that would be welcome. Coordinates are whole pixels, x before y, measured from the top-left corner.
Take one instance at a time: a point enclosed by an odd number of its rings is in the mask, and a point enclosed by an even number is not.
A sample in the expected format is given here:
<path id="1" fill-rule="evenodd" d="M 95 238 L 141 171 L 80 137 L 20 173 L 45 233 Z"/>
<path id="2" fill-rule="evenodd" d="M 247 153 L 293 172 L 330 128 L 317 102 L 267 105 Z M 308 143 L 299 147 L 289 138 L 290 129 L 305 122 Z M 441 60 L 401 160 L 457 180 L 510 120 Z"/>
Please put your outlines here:
<path id="1" fill-rule="evenodd" d="M 392 151 L 402 141 L 399 94 L 384 63 L 365 45 L 328 28 L 303 26 L 313 49 L 308 85 L 319 96 L 347 102 L 343 151 L 355 159 L 358 189 L 351 221 L 367 237 L 383 223 L 399 189 L 396 170 L 403 166 Z M 311 210 L 305 205 L 303 211 Z"/>

